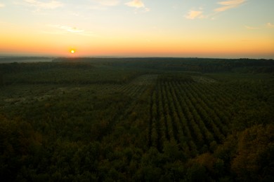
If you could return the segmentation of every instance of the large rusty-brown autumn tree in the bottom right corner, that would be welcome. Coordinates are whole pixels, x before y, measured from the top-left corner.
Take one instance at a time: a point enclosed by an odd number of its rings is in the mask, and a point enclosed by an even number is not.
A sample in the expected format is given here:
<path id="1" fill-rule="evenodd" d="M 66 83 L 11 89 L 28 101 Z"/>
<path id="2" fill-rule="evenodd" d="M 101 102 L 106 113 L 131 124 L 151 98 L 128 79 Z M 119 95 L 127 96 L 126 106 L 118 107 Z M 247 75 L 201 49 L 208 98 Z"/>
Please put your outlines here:
<path id="1" fill-rule="evenodd" d="M 240 134 L 231 169 L 240 181 L 274 180 L 274 125 L 256 125 Z"/>

